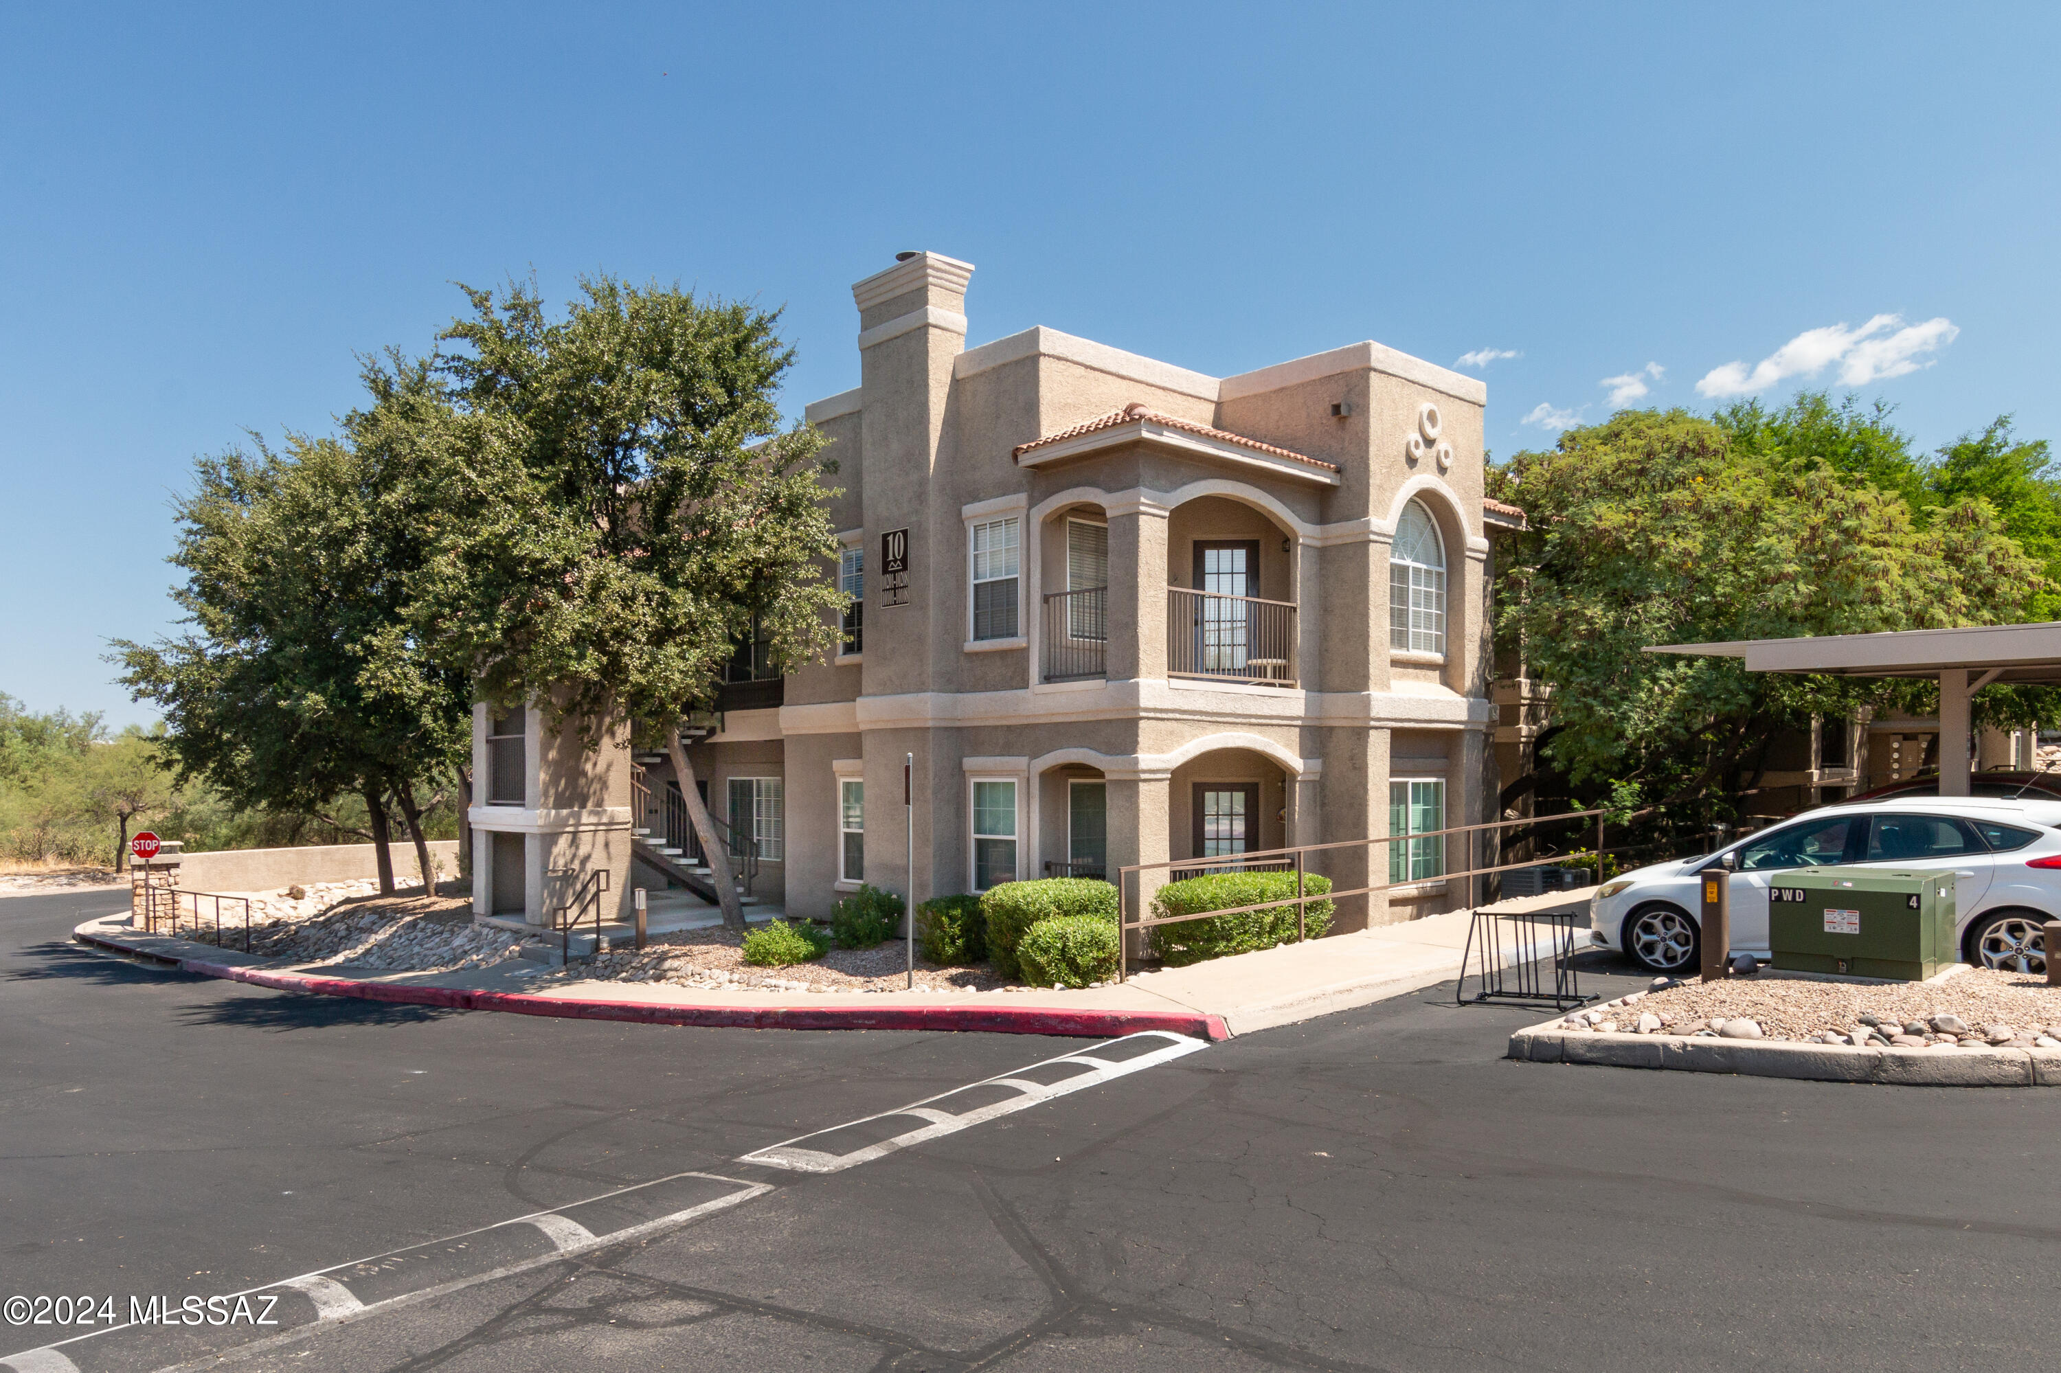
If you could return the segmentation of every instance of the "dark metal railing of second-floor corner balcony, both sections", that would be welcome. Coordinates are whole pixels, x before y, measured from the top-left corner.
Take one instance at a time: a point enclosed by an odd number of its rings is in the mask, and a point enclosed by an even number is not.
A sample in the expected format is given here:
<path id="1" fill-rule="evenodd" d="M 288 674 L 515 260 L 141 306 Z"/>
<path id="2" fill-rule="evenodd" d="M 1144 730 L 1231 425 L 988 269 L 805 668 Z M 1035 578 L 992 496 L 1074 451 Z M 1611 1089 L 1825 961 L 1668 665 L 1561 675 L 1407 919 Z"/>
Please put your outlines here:
<path id="1" fill-rule="evenodd" d="M 1109 588 L 1049 592 L 1043 680 L 1109 670 Z M 1222 682 L 1296 684 L 1296 608 L 1284 600 L 1167 588 L 1167 674 Z"/>

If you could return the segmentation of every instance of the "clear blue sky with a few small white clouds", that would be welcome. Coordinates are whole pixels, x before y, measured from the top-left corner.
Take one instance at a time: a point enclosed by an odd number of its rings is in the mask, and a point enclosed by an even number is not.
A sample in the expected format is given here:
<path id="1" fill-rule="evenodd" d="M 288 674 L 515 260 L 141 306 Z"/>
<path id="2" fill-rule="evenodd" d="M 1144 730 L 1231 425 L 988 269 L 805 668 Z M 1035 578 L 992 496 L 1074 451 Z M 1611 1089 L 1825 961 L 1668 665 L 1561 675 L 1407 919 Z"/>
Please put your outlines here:
<path id="1" fill-rule="evenodd" d="M 857 381 L 849 284 L 925 247 L 977 264 L 975 344 L 1505 355 L 1498 456 L 1807 383 L 1925 447 L 2061 437 L 2057 39 L 2009 4 L 6 6 L 0 691 L 146 719 L 99 656 L 171 629 L 192 458 L 326 429 L 453 280 L 781 305 L 796 414 Z"/>

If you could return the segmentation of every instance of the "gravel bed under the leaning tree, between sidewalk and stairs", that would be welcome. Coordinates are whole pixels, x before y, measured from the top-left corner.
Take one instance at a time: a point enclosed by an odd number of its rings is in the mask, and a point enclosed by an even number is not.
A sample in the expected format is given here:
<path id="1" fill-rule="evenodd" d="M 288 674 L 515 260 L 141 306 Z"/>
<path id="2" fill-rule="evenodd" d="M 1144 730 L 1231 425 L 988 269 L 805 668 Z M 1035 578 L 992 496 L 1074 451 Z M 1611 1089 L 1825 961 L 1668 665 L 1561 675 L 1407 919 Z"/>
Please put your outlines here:
<path id="1" fill-rule="evenodd" d="M 769 992 L 903 992 L 907 990 L 907 950 L 901 940 L 874 948 L 833 948 L 812 963 L 787 967 L 752 967 L 744 963 L 744 938 L 730 930 L 678 930 L 653 934 L 643 952 L 614 948 L 594 963 L 571 963 L 538 977 L 538 985 L 612 979 L 657 981 L 676 987 Z M 1008 983 L 985 967 L 938 967 L 915 961 L 917 992 L 995 992 Z"/>

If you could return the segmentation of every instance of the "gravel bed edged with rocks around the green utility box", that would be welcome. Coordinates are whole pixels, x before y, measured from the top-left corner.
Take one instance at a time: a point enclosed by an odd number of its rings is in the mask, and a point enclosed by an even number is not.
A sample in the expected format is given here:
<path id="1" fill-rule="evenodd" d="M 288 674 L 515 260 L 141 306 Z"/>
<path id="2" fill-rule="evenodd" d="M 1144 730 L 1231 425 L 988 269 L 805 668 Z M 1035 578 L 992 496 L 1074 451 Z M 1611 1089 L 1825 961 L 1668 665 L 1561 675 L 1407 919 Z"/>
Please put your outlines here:
<path id="1" fill-rule="evenodd" d="M 1727 977 L 1632 992 L 1554 1029 L 1896 1047 L 2061 1047 L 2061 987 L 1968 969 L 1946 981 Z"/>

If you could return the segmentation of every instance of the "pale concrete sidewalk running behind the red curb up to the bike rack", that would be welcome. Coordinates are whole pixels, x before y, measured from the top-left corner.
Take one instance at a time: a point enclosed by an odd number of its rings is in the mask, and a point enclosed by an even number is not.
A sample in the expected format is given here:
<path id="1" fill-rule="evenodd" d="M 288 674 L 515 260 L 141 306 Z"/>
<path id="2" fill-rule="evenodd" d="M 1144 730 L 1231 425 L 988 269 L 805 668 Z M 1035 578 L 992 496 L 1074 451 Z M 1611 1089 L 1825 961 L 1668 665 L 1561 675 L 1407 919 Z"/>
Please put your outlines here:
<path id="1" fill-rule="evenodd" d="M 1494 913 L 1581 909 L 1583 893 L 1552 893 L 1484 907 Z M 289 965 L 243 952 L 132 930 L 128 915 L 89 919 L 76 938 L 117 952 L 177 963 L 212 977 L 280 990 L 447 1004 L 521 1014 L 627 1018 L 666 1025 L 785 1025 L 831 1029 L 1016 1029 L 1026 1033 L 1107 1035 L 1134 1029 L 1181 1029 L 1212 1039 L 1366 1006 L 1453 981 L 1461 973 L 1472 911 L 1430 915 L 1399 926 L 1336 934 L 1309 944 L 1214 959 L 1134 975 L 1080 992 L 769 992 L 592 979 L 530 992 L 534 963 L 484 969 L 392 973 L 338 965 Z M 1577 926 L 1579 928 L 1579 926 Z M 1546 948 L 1513 948 L 1509 961 Z"/>

